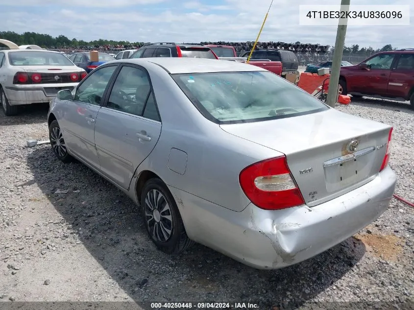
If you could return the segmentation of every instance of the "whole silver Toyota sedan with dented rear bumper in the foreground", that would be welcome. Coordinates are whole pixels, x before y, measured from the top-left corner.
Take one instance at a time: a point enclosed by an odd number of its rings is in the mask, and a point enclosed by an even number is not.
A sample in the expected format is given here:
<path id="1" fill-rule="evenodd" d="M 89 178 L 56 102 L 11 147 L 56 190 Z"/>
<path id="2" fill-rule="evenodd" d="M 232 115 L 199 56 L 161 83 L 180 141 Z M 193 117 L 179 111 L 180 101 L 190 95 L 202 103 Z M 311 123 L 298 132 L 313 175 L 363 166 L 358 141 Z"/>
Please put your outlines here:
<path id="1" fill-rule="evenodd" d="M 256 66 L 111 61 L 49 110 L 53 151 L 141 206 L 167 253 L 202 243 L 259 269 L 309 259 L 390 204 L 392 128 Z"/>

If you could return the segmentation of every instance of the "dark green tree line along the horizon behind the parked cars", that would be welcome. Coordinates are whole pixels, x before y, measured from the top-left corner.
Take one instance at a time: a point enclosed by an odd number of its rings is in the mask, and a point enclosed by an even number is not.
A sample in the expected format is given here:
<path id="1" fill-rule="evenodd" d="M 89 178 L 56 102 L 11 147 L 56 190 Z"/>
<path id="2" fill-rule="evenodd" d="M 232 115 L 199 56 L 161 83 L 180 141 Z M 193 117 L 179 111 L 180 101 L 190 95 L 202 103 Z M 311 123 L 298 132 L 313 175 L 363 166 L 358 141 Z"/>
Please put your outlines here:
<path id="1" fill-rule="evenodd" d="M 17 45 L 38 45 L 42 48 L 98 48 L 98 47 L 119 47 L 119 48 L 133 48 L 141 47 L 144 42 L 128 42 L 128 41 L 114 41 L 99 39 L 94 41 L 77 40 L 76 38 L 69 39 L 64 35 L 52 37 L 49 34 L 37 33 L 37 32 L 24 32 L 22 34 L 14 31 L 0 31 L 0 39 L 5 39 L 16 43 Z M 296 42 L 295 44 L 300 44 Z M 329 52 L 333 52 L 333 47 L 330 47 Z M 372 47 L 362 47 L 358 44 L 350 47 L 344 47 L 344 53 L 372 53 L 378 51 L 395 50 L 390 44 L 385 45 L 382 48 L 374 49 Z"/>

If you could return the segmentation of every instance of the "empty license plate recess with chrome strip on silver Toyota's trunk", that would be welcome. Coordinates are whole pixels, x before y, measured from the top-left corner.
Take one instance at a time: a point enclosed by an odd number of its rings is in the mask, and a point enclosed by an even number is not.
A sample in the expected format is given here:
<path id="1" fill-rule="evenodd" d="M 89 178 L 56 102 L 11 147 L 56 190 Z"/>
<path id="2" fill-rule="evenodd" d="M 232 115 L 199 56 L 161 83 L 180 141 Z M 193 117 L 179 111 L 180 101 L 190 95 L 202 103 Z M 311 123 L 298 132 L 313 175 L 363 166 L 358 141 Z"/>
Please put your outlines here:
<path id="1" fill-rule="evenodd" d="M 370 177 L 375 155 L 372 151 L 369 148 L 324 163 L 326 190 L 340 191 Z"/>

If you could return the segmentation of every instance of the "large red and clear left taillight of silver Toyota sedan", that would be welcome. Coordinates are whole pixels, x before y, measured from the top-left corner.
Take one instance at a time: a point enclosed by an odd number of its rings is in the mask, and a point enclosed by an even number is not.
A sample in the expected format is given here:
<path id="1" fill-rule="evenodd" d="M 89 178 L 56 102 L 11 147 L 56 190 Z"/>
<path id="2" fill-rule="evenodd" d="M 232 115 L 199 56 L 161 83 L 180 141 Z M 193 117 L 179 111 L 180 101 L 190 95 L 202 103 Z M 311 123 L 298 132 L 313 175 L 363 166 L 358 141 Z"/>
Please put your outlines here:
<path id="1" fill-rule="evenodd" d="M 285 156 L 244 168 L 240 172 L 239 182 L 247 198 L 262 209 L 279 210 L 305 203 Z"/>

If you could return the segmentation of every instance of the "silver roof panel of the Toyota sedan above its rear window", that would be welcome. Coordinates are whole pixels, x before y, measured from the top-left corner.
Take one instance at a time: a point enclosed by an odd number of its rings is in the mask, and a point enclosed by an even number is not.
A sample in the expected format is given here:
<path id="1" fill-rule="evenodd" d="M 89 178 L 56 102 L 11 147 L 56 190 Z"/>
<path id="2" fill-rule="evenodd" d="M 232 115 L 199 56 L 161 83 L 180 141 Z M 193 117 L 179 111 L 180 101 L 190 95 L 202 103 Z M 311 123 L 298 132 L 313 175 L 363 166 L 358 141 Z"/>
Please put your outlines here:
<path id="1" fill-rule="evenodd" d="M 208 58 L 157 57 L 123 59 L 117 60 L 115 62 L 127 62 L 137 65 L 144 65 L 144 62 L 150 62 L 164 68 L 167 72 L 171 74 L 232 71 L 267 71 L 266 69 L 260 67 L 236 61 L 217 60 Z"/>

